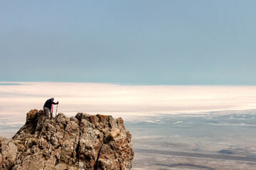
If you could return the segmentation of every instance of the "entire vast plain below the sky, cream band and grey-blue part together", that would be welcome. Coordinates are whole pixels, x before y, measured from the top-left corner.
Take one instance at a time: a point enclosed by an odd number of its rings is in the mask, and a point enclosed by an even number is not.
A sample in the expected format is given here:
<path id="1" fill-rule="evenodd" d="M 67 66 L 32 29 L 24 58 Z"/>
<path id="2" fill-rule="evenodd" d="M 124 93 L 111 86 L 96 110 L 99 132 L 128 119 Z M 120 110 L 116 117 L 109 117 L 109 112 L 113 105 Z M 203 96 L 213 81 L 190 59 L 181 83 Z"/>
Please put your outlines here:
<path id="1" fill-rule="evenodd" d="M 0 82 L 0 135 L 14 135 L 26 113 L 51 97 L 68 117 L 122 117 L 133 169 L 256 168 L 256 86 Z"/>

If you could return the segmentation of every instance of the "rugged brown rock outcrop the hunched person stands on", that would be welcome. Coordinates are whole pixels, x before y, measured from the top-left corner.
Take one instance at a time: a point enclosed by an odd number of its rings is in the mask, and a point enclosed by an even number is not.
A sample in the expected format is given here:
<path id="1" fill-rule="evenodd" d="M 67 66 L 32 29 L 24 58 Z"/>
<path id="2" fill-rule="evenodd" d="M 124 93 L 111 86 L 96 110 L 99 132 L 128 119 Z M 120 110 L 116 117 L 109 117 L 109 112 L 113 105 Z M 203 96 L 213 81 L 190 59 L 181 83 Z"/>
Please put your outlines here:
<path id="1" fill-rule="evenodd" d="M 12 139 L 0 137 L 0 169 L 131 169 L 131 134 L 122 118 L 31 110 Z"/>

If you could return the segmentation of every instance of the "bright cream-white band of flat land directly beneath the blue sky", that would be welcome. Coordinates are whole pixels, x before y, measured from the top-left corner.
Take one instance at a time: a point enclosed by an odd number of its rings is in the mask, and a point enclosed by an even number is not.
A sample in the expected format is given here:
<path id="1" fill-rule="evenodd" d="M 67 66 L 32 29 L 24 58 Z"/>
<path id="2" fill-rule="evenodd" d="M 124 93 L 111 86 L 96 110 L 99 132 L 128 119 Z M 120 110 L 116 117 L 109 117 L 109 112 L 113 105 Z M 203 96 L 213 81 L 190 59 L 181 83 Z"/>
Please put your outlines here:
<path id="1" fill-rule="evenodd" d="M 256 86 L 118 85 L 0 81 L 1 118 L 25 121 L 33 108 L 43 108 L 51 97 L 58 112 L 114 116 L 191 114 L 256 108 Z M 226 112 L 228 113 L 228 112 Z"/>

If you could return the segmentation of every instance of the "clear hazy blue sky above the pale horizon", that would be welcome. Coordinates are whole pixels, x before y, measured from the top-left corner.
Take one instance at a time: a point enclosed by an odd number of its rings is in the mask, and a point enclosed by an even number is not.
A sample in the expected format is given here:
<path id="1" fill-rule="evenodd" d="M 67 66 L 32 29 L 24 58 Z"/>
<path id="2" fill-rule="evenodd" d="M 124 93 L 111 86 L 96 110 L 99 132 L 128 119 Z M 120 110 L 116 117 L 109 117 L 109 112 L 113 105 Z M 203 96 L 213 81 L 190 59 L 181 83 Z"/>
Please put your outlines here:
<path id="1" fill-rule="evenodd" d="M 256 1 L 1 1 L 0 81 L 255 85 Z"/>

